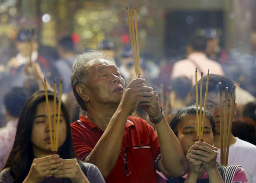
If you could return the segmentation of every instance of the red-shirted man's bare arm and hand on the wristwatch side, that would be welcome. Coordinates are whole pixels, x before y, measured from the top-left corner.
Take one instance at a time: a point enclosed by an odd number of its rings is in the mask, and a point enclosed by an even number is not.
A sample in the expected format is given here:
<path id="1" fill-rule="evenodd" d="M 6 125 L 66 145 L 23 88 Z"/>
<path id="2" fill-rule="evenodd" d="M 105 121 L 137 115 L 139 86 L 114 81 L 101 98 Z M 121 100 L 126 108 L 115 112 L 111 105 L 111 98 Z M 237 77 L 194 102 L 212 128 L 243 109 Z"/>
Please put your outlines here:
<path id="1" fill-rule="evenodd" d="M 154 96 L 151 98 L 151 102 L 143 105 L 142 107 L 149 114 L 149 116 L 155 120 L 161 114 L 158 96 L 155 91 Z M 162 120 L 155 126 L 157 129 L 162 154 L 162 158 L 158 161 L 159 170 L 167 176 L 183 176 L 187 171 L 187 163 L 181 144 L 168 125 L 165 117 L 162 118 Z"/>

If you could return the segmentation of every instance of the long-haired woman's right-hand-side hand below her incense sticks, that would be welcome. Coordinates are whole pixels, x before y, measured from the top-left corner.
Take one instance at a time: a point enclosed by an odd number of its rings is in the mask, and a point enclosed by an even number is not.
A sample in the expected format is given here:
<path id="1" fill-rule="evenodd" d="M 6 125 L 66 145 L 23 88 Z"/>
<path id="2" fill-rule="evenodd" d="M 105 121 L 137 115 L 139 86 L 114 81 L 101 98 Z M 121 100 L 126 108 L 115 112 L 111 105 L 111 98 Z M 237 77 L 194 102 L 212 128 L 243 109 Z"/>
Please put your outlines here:
<path id="1" fill-rule="evenodd" d="M 89 183 L 85 174 L 81 170 L 77 159 L 65 159 L 60 171 L 54 174 L 56 178 L 70 178 L 73 183 Z"/>

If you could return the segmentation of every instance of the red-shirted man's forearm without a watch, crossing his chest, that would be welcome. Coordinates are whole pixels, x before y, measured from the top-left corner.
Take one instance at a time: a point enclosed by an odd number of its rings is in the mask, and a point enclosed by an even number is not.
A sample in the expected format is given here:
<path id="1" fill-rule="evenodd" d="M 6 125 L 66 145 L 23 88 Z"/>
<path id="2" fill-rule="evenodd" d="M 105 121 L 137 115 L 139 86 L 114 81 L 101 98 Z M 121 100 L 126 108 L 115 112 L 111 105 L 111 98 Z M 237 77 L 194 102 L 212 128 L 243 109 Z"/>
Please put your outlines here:
<path id="1" fill-rule="evenodd" d="M 87 162 L 99 168 L 104 178 L 109 175 L 117 162 L 128 116 L 129 113 L 119 106 L 105 132 L 86 159 Z"/>

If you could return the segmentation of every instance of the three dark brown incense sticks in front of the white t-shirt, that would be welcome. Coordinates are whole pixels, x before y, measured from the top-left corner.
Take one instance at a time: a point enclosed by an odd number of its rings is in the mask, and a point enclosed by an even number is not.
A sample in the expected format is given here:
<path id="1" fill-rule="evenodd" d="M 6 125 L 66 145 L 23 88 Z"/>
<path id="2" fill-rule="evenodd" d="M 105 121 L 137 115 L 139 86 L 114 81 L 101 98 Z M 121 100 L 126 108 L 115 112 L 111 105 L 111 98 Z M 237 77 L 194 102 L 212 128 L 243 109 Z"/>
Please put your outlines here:
<path id="1" fill-rule="evenodd" d="M 221 165 L 227 166 L 229 159 L 229 143 L 230 143 L 230 135 L 232 129 L 232 121 L 234 116 L 235 109 L 235 88 L 236 85 L 233 86 L 232 99 L 231 99 L 231 107 L 229 114 L 229 127 L 227 127 L 227 116 L 228 116 L 228 87 L 225 90 L 225 108 L 223 115 L 223 100 L 222 100 L 222 83 L 219 82 L 219 96 L 220 96 L 220 143 L 221 143 Z M 224 119 L 223 119 L 224 118 Z"/>

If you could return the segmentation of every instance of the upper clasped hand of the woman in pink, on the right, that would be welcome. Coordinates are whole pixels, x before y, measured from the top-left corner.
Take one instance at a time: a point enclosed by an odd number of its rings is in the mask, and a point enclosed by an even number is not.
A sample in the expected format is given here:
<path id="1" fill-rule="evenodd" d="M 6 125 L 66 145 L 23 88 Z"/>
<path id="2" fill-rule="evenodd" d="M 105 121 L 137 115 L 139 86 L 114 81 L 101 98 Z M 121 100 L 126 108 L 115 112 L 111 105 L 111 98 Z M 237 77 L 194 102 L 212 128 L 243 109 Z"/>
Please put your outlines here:
<path id="1" fill-rule="evenodd" d="M 217 169 L 217 148 L 205 142 L 196 142 L 191 149 L 191 158 L 203 162 L 203 168 L 208 172 Z"/>

